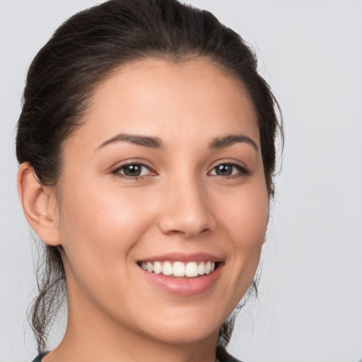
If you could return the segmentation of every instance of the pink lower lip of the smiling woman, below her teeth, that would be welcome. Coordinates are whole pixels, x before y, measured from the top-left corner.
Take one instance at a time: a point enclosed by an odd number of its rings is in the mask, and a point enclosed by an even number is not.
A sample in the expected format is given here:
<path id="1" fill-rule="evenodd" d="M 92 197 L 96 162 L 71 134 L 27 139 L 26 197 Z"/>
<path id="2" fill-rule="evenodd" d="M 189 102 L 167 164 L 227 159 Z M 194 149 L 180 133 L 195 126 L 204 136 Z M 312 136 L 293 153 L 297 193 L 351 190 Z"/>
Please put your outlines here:
<path id="1" fill-rule="evenodd" d="M 155 274 L 150 271 L 139 268 L 144 276 L 154 286 L 161 290 L 174 294 L 176 296 L 196 296 L 197 294 L 204 293 L 212 288 L 218 277 L 221 275 L 223 264 L 218 264 L 218 267 L 210 274 L 187 277 L 170 277 L 163 274 Z"/>

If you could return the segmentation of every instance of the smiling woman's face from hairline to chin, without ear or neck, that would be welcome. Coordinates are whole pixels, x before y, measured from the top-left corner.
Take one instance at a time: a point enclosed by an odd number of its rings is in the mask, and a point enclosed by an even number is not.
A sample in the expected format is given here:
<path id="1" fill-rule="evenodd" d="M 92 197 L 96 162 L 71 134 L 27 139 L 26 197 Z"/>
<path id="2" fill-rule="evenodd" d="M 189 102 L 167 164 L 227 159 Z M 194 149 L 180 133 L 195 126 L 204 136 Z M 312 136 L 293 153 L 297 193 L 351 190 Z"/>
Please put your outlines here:
<path id="1" fill-rule="evenodd" d="M 70 315 L 167 343 L 217 335 L 267 228 L 243 86 L 202 59 L 123 66 L 96 88 L 63 157 Z"/>

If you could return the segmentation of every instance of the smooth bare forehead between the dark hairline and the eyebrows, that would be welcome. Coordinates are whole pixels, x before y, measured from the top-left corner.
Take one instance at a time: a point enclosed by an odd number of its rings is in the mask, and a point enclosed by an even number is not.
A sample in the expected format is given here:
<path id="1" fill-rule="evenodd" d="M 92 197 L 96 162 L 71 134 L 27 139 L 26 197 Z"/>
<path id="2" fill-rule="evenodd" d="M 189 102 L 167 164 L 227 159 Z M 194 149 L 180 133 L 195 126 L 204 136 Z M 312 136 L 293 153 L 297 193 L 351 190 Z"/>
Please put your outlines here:
<path id="1" fill-rule="evenodd" d="M 117 133 L 177 143 L 240 132 L 259 144 L 256 112 L 240 81 L 206 59 L 144 59 L 95 88 L 76 137 L 94 149 Z"/>

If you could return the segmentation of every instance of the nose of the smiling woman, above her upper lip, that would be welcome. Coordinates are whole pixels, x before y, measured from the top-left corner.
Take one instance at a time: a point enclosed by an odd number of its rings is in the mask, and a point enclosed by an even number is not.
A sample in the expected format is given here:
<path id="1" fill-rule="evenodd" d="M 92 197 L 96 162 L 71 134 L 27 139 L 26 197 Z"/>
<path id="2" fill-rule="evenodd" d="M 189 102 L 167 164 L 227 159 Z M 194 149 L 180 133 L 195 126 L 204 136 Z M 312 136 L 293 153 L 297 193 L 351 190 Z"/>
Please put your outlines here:
<path id="1" fill-rule="evenodd" d="M 179 180 L 169 185 L 164 194 L 159 219 L 160 230 L 168 235 L 192 238 L 215 228 L 210 200 L 197 180 Z"/>

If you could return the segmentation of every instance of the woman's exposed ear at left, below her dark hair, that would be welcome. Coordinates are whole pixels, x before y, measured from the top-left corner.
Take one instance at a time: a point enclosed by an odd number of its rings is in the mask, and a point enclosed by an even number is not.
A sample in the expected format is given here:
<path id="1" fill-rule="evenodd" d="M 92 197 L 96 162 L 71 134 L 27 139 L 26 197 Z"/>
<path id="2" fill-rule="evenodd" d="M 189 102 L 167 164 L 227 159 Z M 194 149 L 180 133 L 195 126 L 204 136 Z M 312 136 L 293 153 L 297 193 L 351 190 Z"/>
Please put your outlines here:
<path id="1" fill-rule="evenodd" d="M 43 186 L 28 162 L 18 169 L 18 194 L 25 218 L 48 245 L 60 245 L 57 199 L 52 187 Z"/>

